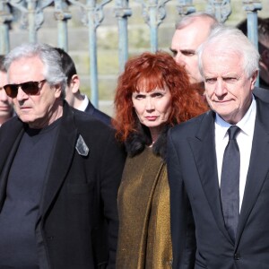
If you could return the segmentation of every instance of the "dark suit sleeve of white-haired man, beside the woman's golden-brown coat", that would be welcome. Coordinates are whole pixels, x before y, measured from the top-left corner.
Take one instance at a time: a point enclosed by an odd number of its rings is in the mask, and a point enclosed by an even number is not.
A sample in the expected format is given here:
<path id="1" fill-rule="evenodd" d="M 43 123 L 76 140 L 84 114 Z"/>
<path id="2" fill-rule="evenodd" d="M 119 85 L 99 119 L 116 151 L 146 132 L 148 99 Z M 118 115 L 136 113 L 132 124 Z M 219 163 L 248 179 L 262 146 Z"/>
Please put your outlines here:
<path id="1" fill-rule="evenodd" d="M 175 146 L 173 134 L 169 130 L 168 177 L 170 187 L 173 268 L 191 269 L 195 267 L 195 223 L 178 159 L 179 150 Z"/>

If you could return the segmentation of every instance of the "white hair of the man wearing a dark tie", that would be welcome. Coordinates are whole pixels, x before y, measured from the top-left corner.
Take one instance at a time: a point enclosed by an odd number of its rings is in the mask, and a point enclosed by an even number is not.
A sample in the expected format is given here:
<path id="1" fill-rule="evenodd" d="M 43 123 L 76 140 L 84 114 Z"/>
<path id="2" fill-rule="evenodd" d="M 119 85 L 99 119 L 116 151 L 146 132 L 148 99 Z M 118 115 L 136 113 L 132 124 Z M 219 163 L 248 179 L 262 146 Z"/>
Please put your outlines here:
<path id="1" fill-rule="evenodd" d="M 208 39 L 197 48 L 199 71 L 203 73 L 202 56 L 204 49 L 214 45 L 213 48 L 218 48 L 225 53 L 234 52 L 243 57 L 242 68 L 250 78 L 256 71 L 259 70 L 260 55 L 257 48 L 252 42 L 247 39 L 243 32 L 237 28 L 219 25 L 215 27 Z"/>

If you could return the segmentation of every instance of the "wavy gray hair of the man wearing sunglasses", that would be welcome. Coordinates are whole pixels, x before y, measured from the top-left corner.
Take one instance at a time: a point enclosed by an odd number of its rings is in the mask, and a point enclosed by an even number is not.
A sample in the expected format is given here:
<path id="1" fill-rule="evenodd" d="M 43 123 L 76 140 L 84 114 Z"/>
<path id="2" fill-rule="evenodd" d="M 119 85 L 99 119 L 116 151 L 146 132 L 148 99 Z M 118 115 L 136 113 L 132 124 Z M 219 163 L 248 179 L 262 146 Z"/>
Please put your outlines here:
<path id="1" fill-rule="evenodd" d="M 4 60 L 4 66 L 8 72 L 10 65 L 21 58 L 38 56 L 44 64 L 44 78 L 48 84 L 61 85 L 61 97 L 65 99 L 66 76 L 63 72 L 61 58 L 55 48 L 44 43 L 24 43 L 13 48 Z"/>

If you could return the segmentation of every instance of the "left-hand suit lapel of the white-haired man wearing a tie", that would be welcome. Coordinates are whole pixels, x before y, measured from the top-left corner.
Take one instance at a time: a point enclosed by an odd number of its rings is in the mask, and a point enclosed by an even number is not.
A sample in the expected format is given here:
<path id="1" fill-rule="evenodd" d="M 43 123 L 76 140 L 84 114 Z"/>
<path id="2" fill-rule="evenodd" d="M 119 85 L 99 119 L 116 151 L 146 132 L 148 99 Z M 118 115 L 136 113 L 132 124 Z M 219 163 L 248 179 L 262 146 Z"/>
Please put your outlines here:
<path id="1" fill-rule="evenodd" d="M 190 146 L 194 152 L 195 163 L 199 172 L 200 180 L 204 189 L 204 195 L 213 212 L 213 216 L 219 229 L 224 236 L 230 236 L 224 226 L 221 210 L 220 187 L 215 151 L 214 113 L 208 112 L 200 125 L 196 139 L 189 139 Z"/>

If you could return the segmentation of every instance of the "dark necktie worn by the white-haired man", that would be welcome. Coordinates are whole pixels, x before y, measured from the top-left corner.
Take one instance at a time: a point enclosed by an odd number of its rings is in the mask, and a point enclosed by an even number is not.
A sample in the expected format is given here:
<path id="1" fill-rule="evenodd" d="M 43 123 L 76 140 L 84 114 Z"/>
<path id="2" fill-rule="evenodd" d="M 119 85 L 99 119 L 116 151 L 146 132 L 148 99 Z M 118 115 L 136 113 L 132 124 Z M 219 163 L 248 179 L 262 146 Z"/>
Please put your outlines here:
<path id="1" fill-rule="evenodd" d="M 225 148 L 221 169 L 221 204 L 226 229 L 235 241 L 239 223 L 240 152 L 236 141 L 238 126 L 228 129 L 229 143 Z"/>

